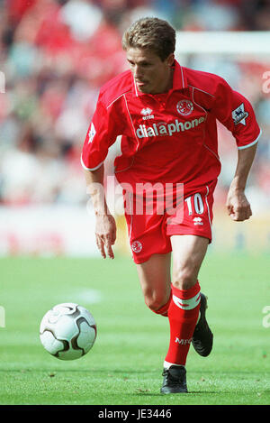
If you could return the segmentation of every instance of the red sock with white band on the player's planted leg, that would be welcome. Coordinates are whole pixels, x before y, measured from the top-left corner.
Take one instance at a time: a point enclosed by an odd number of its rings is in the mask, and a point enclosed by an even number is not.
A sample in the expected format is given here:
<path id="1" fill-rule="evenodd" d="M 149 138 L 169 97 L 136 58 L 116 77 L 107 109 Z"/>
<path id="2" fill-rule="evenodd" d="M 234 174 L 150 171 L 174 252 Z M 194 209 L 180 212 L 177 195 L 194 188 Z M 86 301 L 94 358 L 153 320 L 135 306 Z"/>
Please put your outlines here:
<path id="1" fill-rule="evenodd" d="M 185 365 L 199 316 L 200 290 L 198 281 L 189 290 L 178 290 L 172 285 L 173 296 L 167 312 L 170 323 L 170 344 L 165 359 L 167 363 Z"/>

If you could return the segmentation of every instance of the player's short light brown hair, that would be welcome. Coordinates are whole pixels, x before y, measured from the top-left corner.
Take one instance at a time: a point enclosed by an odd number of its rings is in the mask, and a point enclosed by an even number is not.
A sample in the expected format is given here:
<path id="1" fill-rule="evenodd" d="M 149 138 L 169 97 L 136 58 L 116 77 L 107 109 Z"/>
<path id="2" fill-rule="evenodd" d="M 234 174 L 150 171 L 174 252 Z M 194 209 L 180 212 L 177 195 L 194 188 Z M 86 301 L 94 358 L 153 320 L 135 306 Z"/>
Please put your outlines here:
<path id="1" fill-rule="evenodd" d="M 162 60 L 175 52 L 175 30 L 159 18 L 141 18 L 132 23 L 122 37 L 122 48 L 153 51 Z"/>

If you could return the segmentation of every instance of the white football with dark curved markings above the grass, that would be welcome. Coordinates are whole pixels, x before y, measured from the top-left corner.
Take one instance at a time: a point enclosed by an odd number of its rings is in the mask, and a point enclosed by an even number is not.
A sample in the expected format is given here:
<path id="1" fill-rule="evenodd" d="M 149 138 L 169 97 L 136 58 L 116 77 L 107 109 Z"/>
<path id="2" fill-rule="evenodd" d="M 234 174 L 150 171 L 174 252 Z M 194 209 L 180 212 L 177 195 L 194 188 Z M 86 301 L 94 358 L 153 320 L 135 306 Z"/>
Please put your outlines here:
<path id="1" fill-rule="evenodd" d="M 60 360 L 76 360 L 91 350 L 96 324 L 89 311 L 74 303 L 51 308 L 40 323 L 40 341 L 49 354 Z"/>

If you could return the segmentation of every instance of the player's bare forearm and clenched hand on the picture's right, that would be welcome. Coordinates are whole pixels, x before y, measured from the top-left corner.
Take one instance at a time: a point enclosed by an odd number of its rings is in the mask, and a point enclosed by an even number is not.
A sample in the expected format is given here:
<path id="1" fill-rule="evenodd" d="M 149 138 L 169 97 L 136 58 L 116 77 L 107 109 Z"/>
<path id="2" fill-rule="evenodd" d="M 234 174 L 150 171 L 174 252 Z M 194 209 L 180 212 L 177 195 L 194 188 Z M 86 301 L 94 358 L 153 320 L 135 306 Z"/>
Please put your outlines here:
<path id="1" fill-rule="evenodd" d="M 242 222 L 252 216 L 250 204 L 245 195 L 247 177 L 255 158 L 257 144 L 247 149 L 238 150 L 237 169 L 229 187 L 226 207 L 229 216 Z"/>

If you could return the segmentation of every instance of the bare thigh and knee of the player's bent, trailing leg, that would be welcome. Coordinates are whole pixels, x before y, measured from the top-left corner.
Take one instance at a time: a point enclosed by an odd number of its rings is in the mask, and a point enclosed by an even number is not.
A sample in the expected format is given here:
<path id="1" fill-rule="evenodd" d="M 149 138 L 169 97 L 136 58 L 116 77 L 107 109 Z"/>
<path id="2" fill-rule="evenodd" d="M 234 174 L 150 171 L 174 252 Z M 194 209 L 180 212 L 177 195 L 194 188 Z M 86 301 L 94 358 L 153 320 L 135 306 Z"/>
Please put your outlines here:
<path id="1" fill-rule="evenodd" d="M 155 313 L 167 316 L 171 296 L 171 253 L 153 254 L 147 262 L 136 266 L 146 305 Z"/>

